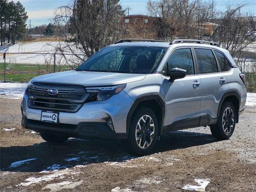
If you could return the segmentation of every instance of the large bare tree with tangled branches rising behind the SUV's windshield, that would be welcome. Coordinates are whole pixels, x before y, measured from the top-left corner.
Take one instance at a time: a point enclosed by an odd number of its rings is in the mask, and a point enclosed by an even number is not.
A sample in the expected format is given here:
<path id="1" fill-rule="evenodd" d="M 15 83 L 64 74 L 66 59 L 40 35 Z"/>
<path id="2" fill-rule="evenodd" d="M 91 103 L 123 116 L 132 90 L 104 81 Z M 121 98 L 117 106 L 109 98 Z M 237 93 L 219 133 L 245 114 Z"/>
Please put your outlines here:
<path id="1" fill-rule="evenodd" d="M 120 38 L 124 10 L 119 0 L 108 0 L 107 11 L 103 4 L 103 0 L 74 0 L 56 9 L 55 24 L 64 41 L 56 47 L 58 52 L 84 60 L 81 54 L 90 57 Z"/>

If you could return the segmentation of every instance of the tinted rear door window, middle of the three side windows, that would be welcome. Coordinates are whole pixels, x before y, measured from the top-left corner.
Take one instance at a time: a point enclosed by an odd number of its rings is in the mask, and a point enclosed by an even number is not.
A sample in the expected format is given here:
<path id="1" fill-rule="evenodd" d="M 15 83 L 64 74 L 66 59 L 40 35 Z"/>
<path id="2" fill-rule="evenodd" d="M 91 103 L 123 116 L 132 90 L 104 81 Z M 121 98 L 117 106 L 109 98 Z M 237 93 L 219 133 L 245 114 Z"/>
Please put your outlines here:
<path id="1" fill-rule="evenodd" d="M 198 73 L 215 73 L 218 72 L 217 63 L 210 49 L 194 49 L 198 63 Z"/>

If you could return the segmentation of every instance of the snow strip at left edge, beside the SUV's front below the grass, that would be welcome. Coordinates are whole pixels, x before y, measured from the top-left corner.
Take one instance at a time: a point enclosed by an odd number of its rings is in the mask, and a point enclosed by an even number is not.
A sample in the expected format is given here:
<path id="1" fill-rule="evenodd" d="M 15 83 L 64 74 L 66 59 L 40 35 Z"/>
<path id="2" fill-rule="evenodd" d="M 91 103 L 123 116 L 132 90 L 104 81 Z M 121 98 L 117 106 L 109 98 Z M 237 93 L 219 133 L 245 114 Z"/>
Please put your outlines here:
<path id="1" fill-rule="evenodd" d="M 0 83 L 0 97 L 20 99 L 27 85 L 26 83 Z"/>

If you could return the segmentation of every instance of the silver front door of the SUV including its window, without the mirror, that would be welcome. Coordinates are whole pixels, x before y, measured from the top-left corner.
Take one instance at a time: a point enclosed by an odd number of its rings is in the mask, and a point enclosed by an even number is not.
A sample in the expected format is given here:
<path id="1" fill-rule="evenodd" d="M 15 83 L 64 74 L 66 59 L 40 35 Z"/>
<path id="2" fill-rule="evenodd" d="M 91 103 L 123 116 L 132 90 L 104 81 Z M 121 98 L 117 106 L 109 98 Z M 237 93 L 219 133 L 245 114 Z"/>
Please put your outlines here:
<path id="1" fill-rule="evenodd" d="M 186 77 L 169 82 L 168 71 L 172 68 L 186 70 Z M 166 104 L 164 131 L 197 127 L 200 120 L 201 85 L 196 75 L 192 49 L 174 50 L 162 74 Z"/>

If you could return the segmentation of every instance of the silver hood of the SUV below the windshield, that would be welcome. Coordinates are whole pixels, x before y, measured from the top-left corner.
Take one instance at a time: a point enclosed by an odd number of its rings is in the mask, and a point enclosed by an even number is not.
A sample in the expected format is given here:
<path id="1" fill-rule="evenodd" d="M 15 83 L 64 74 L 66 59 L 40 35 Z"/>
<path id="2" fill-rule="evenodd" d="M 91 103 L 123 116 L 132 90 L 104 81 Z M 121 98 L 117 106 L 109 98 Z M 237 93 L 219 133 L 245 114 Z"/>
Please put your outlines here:
<path id="1" fill-rule="evenodd" d="M 140 81 L 146 74 L 65 71 L 35 77 L 31 82 L 76 84 L 83 86 L 108 86 Z"/>

